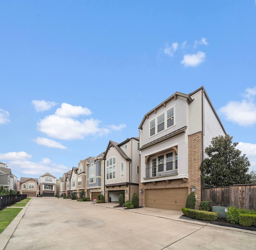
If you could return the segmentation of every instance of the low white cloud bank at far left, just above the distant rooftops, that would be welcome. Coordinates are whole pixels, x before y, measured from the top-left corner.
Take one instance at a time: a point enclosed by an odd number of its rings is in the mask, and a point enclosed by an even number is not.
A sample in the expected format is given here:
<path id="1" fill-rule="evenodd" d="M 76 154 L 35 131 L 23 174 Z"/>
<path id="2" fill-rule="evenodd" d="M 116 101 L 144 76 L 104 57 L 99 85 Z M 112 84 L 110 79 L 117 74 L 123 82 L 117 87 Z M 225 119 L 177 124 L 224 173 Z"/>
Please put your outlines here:
<path id="1" fill-rule="evenodd" d="M 29 159 L 31 158 L 32 155 L 24 151 L 0 154 L 0 160 L 5 160 L 8 168 L 12 169 L 12 173 L 19 177 L 28 175 L 38 178 L 40 175 L 49 172 L 58 178 L 68 170 L 68 167 L 62 164 L 52 163 L 48 158 L 43 158 L 39 162 L 30 161 Z"/>

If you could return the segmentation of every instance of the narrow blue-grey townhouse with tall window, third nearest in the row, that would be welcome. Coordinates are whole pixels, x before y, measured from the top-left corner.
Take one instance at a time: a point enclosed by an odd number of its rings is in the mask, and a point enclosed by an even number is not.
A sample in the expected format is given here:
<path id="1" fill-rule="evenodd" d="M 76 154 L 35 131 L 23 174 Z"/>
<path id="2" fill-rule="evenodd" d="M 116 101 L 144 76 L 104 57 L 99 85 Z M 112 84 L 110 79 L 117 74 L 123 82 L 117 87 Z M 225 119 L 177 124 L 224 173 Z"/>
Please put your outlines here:
<path id="1" fill-rule="evenodd" d="M 98 195 L 104 194 L 104 153 L 90 157 L 87 164 L 87 195 L 90 200 L 98 199 Z"/>

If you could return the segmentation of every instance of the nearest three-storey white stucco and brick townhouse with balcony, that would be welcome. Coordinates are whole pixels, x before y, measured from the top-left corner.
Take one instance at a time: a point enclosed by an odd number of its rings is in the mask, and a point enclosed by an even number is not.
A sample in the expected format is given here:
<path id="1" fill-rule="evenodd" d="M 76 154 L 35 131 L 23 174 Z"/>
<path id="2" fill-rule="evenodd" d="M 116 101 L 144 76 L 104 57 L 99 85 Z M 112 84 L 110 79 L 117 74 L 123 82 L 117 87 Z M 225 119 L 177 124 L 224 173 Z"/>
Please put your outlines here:
<path id="1" fill-rule="evenodd" d="M 140 130 L 140 206 L 181 210 L 191 190 L 202 198 L 200 164 L 226 131 L 204 89 L 176 92 L 146 113 Z"/>

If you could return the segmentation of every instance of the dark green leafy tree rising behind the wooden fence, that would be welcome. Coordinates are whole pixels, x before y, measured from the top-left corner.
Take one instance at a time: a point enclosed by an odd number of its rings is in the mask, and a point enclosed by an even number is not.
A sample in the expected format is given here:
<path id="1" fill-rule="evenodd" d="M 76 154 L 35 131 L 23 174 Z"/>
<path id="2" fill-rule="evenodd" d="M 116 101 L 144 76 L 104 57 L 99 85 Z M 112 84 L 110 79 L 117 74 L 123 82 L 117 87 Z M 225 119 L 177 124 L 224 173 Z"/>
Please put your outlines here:
<path id="1" fill-rule="evenodd" d="M 250 183 L 250 162 L 236 149 L 238 143 L 232 143 L 232 139 L 230 135 L 220 135 L 214 137 L 212 145 L 206 147 L 208 158 L 200 166 L 206 188 Z"/>

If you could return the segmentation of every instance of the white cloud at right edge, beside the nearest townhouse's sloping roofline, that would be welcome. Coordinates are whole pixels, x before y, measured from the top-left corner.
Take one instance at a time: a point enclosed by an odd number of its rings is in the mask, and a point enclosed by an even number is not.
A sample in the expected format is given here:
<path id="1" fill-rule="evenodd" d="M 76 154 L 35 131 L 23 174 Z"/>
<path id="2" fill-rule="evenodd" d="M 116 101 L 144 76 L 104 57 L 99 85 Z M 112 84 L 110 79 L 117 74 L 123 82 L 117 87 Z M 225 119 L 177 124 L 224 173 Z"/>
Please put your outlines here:
<path id="1" fill-rule="evenodd" d="M 230 101 L 219 109 L 220 113 L 228 121 L 240 126 L 252 126 L 256 124 L 256 103 L 253 99 L 256 95 L 256 88 L 247 88 L 242 101 Z M 237 115 L 239 114 L 239 115 Z M 241 119 L 242 117 L 242 119 Z"/>

